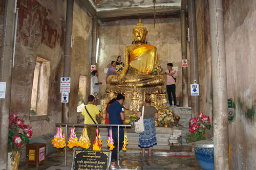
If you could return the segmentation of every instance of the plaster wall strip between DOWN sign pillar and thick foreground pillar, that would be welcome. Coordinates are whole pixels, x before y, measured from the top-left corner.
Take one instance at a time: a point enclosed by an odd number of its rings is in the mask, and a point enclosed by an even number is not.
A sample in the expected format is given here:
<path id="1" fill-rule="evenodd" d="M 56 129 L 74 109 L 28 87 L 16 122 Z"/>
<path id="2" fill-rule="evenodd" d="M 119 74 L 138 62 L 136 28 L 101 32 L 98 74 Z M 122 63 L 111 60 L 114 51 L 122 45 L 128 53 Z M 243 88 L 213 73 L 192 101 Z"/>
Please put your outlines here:
<path id="1" fill-rule="evenodd" d="M 199 107 L 212 123 L 211 57 L 208 1 L 196 1 Z M 209 137 L 212 136 L 212 129 Z"/>

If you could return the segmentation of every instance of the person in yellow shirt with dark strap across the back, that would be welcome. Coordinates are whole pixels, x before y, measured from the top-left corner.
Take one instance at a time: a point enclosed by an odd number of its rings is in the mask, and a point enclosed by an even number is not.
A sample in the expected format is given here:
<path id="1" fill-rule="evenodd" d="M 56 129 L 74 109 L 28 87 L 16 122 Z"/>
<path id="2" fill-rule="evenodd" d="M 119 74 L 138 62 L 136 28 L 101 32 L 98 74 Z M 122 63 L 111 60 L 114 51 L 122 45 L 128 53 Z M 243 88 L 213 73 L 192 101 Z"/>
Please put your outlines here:
<path id="1" fill-rule="evenodd" d="M 84 124 L 98 124 L 97 120 L 100 119 L 100 114 L 99 114 L 98 106 L 94 105 L 94 100 L 95 100 L 94 96 L 89 95 L 88 96 L 88 105 L 86 105 L 82 108 Z M 86 126 L 86 127 L 87 127 L 88 136 L 91 139 L 91 143 L 93 143 L 95 140 L 95 136 L 96 136 L 96 126 Z M 93 149 L 93 147 L 91 147 L 91 150 L 92 149 Z"/>

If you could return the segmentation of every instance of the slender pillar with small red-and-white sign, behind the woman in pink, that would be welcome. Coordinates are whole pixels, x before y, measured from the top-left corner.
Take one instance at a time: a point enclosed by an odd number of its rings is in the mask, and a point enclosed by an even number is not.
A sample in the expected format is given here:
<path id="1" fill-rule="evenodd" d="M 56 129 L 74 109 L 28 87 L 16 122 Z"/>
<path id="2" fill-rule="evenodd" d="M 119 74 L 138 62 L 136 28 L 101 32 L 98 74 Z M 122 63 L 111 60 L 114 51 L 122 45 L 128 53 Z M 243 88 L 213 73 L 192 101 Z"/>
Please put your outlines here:
<path id="1" fill-rule="evenodd" d="M 187 36 L 186 36 L 186 14 L 185 10 L 180 11 L 181 26 L 181 54 L 182 60 L 187 60 Z M 187 67 L 182 67 L 182 107 L 188 107 L 187 93 Z"/>

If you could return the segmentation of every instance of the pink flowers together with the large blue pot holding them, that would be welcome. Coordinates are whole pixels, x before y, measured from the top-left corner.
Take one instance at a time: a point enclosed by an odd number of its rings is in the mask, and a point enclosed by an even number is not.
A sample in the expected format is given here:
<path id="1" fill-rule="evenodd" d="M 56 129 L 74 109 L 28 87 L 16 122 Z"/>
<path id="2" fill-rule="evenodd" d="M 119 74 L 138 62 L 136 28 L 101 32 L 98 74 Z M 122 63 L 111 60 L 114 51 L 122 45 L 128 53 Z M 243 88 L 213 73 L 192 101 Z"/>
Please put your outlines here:
<path id="1" fill-rule="evenodd" d="M 212 140 L 206 140 L 210 128 L 210 118 L 202 112 L 189 120 L 190 133 L 187 134 L 186 142 L 195 145 L 197 162 L 202 169 L 214 169 L 214 144 Z"/>

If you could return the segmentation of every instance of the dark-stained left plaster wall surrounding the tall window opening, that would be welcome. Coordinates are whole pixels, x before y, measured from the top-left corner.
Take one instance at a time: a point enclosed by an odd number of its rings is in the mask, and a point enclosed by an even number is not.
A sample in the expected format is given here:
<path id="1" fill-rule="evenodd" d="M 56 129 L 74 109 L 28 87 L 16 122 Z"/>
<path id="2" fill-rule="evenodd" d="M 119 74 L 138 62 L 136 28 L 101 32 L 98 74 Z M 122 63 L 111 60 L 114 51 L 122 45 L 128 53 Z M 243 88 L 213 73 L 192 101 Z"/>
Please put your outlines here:
<path id="1" fill-rule="evenodd" d="M 61 121 L 59 79 L 65 35 L 64 1 L 20 0 L 15 68 L 12 72 L 11 113 L 25 119 L 33 137 L 55 131 Z M 50 61 L 48 119 L 31 120 L 30 103 L 36 57 Z M 47 99 L 46 99 L 47 100 Z"/>

